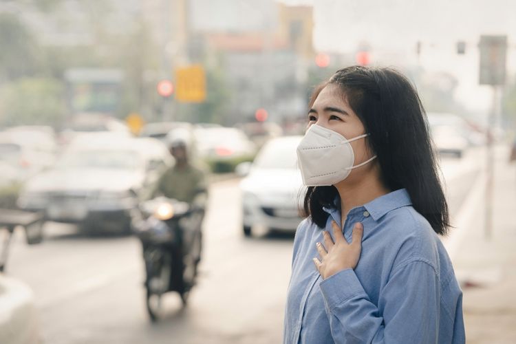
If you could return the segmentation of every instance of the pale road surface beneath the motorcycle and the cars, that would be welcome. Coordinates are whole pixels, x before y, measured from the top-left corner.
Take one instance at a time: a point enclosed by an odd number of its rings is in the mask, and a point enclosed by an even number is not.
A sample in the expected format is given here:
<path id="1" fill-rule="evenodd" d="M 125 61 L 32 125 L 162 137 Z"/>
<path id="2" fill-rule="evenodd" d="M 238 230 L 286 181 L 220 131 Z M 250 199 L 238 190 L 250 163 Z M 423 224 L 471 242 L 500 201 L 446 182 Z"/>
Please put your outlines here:
<path id="1" fill-rule="evenodd" d="M 483 159 L 480 149 L 444 158 L 452 218 Z M 152 324 L 144 306 L 140 245 L 134 237 L 85 237 L 76 227 L 45 225 L 45 241 L 14 236 L 8 274 L 36 295 L 43 343 L 280 343 L 290 277 L 292 235 L 241 234 L 238 180 L 211 185 L 199 283 L 182 309 L 164 300 Z"/>

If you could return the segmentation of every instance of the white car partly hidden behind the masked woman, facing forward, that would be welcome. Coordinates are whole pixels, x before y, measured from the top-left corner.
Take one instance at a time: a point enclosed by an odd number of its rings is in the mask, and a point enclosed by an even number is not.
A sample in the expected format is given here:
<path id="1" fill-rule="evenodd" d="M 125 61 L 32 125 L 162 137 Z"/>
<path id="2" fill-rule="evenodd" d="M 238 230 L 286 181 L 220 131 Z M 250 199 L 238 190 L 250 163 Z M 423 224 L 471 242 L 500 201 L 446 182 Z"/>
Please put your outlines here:
<path id="1" fill-rule="evenodd" d="M 303 191 L 297 167 L 296 148 L 303 136 L 285 136 L 268 141 L 249 173 L 240 183 L 242 230 L 250 236 L 252 228 L 294 232 L 301 222 L 299 196 Z M 238 170 L 245 173 L 246 165 Z"/>

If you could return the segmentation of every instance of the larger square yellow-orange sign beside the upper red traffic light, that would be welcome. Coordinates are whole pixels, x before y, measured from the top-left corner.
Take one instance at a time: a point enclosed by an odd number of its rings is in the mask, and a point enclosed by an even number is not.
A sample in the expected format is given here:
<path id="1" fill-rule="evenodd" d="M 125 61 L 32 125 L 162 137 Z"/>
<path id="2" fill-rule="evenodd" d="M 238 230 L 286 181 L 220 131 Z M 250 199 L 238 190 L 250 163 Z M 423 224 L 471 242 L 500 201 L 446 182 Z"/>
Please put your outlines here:
<path id="1" fill-rule="evenodd" d="M 202 103 L 206 100 L 206 76 L 201 65 L 175 69 L 175 99 L 182 103 Z"/>

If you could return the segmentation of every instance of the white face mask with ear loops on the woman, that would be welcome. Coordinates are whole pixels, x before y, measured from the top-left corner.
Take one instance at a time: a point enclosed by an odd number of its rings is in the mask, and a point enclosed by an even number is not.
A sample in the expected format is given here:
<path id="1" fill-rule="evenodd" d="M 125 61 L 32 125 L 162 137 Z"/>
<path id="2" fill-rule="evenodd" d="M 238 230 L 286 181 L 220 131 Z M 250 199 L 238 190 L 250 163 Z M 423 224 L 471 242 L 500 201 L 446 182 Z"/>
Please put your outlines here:
<path id="1" fill-rule="evenodd" d="M 345 180 L 352 169 L 371 162 L 376 155 L 356 166 L 350 142 L 369 136 L 365 133 L 347 140 L 340 133 L 312 125 L 297 146 L 297 160 L 306 186 L 329 186 Z"/>

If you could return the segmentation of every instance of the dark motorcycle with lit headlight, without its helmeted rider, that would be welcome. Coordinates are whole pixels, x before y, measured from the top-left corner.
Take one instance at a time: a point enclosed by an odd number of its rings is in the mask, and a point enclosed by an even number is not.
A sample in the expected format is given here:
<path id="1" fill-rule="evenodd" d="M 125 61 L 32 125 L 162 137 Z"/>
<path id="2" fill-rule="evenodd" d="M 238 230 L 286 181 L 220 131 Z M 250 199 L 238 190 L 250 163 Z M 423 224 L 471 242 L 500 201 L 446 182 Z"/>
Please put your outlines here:
<path id="1" fill-rule="evenodd" d="M 147 312 L 157 321 L 166 292 L 178 292 L 184 307 L 195 285 L 204 208 L 158 197 L 142 202 L 131 217 L 142 242 Z"/>

